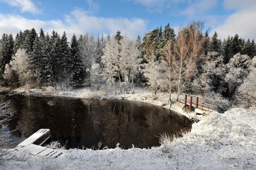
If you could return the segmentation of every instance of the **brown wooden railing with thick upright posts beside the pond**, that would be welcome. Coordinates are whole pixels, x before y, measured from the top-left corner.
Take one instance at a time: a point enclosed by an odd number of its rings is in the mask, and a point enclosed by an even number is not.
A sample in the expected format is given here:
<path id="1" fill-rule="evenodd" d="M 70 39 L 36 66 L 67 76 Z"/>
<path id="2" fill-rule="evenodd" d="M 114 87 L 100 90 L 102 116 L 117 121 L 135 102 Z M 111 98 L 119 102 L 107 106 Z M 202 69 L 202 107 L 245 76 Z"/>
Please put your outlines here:
<path id="1" fill-rule="evenodd" d="M 188 97 L 189 97 L 189 99 L 188 99 Z M 194 101 L 193 98 L 195 98 L 196 100 Z M 217 106 L 214 106 L 214 105 L 211 105 L 208 103 L 199 102 L 199 98 L 201 98 L 201 97 L 185 94 L 184 100 L 179 99 L 179 101 L 184 103 L 184 106 L 189 106 L 189 112 L 191 112 L 192 107 L 201 108 L 201 109 L 204 109 L 207 111 L 215 111 L 218 108 Z"/>

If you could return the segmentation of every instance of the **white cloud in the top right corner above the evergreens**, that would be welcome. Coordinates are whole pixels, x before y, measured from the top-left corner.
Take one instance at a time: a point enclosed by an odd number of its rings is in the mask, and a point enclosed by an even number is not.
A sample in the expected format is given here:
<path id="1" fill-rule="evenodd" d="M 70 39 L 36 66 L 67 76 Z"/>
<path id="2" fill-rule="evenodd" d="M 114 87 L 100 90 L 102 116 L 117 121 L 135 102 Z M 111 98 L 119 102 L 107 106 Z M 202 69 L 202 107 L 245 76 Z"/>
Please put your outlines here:
<path id="1" fill-rule="evenodd" d="M 225 0 L 223 6 L 226 9 L 235 10 L 220 26 L 213 29 L 217 31 L 219 38 L 227 38 L 228 35 L 238 33 L 242 38 L 256 38 L 256 1 L 255 0 Z"/>

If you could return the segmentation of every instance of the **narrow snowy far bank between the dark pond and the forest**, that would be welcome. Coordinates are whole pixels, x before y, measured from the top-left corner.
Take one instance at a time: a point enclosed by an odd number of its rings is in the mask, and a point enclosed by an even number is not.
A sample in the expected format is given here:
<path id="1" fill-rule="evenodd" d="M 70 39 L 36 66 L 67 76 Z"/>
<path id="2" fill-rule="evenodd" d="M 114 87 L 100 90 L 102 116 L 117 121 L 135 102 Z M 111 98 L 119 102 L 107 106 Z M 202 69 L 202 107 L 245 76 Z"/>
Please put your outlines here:
<path id="1" fill-rule="evenodd" d="M 114 94 L 113 89 L 105 89 L 101 91 L 92 91 L 89 88 L 82 89 L 69 89 L 65 91 L 46 89 L 42 91 L 40 89 L 15 89 L 12 91 L 15 94 L 25 94 L 30 96 L 66 96 L 73 98 L 97 98 L 97 99 L 123 99 L 129 101 L 141 101 L 145 103 L 151 103 L 155 106 L 160 106 L 162 108 L 169 108 L 169 94 L 164 92 L 159 92 L 155 97 L 152 96 L 152 91 L 145 88 L 137 87 L 133 94 L 125 94 L 118 92 Z M 172 95 L 172 98 L 176 98 L 176 94 Z M 196 113 L 187 113 L 182 110 L 183 104 L 176 102 L 172 105 L 171 110 L 181 113 L 187 116 L 187 118 L 194 120 L 201 120 L 203 115 L 196 115 Z M 208 112 L 206 112 L 208 113 Z"/>

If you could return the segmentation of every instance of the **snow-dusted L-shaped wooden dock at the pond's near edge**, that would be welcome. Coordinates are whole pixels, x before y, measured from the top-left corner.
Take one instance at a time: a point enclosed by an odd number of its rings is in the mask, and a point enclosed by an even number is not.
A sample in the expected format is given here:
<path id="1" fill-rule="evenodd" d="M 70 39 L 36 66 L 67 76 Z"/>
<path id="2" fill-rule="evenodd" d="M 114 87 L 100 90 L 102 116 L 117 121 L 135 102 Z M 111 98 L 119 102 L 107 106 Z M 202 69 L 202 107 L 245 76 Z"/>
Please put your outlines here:
<path id="1" fill-rule="evenodd" d="M 49 129 L 40 129 L 15 148 L 21 152 L 28 152 L 38 157 L 59 157 L 62 152 L 57 149 L 42 147 L 43 143 L 50 137 Z"/>

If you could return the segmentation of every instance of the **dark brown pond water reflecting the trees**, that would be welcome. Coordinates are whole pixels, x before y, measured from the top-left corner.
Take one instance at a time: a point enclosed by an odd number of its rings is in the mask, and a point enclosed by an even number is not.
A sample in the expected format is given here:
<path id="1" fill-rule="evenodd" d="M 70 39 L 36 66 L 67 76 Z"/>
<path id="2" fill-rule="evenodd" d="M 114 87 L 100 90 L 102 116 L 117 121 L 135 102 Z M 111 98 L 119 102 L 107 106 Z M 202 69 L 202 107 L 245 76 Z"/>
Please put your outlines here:
<path id="1" fill-rule="evenodd" d="M 91 99 L 1 96 L 10 100 L 13 118 L 7 124 L 15 147 L 40 128 L 49 128 L 52 141 L 66 148 L 135 147 L 159 145 L 163 132 L 189 130 L 183 115 L 148 103 Z M 50 142 L 50 141 L 48 141 Z"/>

